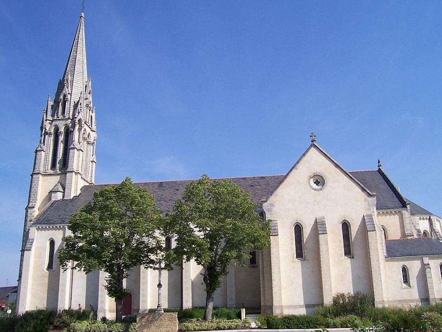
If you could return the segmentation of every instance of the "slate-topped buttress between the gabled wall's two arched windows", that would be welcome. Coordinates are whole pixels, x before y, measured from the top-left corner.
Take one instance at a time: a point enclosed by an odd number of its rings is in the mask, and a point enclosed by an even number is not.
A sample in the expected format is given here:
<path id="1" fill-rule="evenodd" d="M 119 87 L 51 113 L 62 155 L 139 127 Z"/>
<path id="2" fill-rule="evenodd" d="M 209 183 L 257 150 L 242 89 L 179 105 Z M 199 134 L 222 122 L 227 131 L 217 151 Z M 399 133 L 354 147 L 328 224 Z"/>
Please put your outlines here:
<path id="1" fill-rule="evenodd" d="M 330 305 L 333 301 L 333 290 L 331 287 L 331 269 L 329 255 L 329 239 L 325 217 L 316 217 L 319 238 L 319 257 L 322 276 L 322 298 L 324 305 Z"/>

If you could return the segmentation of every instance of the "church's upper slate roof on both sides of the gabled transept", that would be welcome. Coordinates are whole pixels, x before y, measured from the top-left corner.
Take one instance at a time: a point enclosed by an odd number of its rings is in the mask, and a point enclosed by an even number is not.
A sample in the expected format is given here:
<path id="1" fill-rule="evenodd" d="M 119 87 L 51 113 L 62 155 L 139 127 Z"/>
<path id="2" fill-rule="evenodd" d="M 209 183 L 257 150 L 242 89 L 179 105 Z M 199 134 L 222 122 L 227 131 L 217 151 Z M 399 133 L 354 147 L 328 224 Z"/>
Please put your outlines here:
<path id="1" fill-rule="evenodd" d="M 377 210 L 404 209 L 405 199 L 399 191 L 385 176 L 382 170 L 373 171 L 354 171 L 349 172 L 368 190 L 376 192 Z M 269 198 L 275 191 L 279 183 L 283 180 L 283 175 L 230 178 L 234 183 L 242 187 L 251 195 L 252 201 L 258 203 L 261 207 L 261 199 Z M 222 180 L 222 179 L 219 179 Z M 138 182 L 137 185 L 147 188 L 154 195 L 157 207 L 162 213 L 172 211 L 175 200 L 180 199 L 187 183 L 194 180 L 181 181 L 156 181 L 156 182 Z M 103 188 L 110 184 L 95 184 L 83 186 L 80 195 L 70 200 L 60 200 L 54 202 L 46 211 L 44 211 L 33 223 L 34 225 L 64 225 L 69 223 L 72 214 L 77 212 L 86 203 L 92 202 L 95 190 Z M 410 202 L 411 214 L 425 215 L 431 212 L 421 208 L 417 204 Z M 259 211 L 261 212 L 261 208 Z"/>

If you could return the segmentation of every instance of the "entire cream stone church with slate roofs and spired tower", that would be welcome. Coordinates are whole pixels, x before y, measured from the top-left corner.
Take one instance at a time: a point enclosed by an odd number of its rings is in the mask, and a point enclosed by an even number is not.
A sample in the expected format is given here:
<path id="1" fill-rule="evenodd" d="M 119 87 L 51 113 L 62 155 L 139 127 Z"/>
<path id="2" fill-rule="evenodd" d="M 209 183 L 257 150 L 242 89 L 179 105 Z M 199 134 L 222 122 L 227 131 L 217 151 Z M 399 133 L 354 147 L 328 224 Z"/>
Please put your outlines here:
<path id="1" fill-rule="evenodd" d="M 35 150 L 20 262 L 18 311 L 98 308 L 114 317 L 104 272 L 63 272 L 57 260 L 70 216 L 105 185 L 94 184 L 97 127 L 87 76 L 84 16 L 55 97 L 48 97 Z M 277 176 L 232 178 L 271 220 L 271 246 L 231 267 L 216 306 L 277 315 L 311 313 L 338 292 L 362 292 L 376 305 L 435 303 L 442 298 L 442 221 L 405 198 L 378 168 L 348 172 L 316 144 Z M 187 181 L 142 182 L 163 213 Z M 173 239 L 166 239 L 171 246 Z M 203 306 L 201 268 L 163 272 L 163 306 Z M 158 272 L 137 267 L 125 280 L 125 313 L 157 306 Z"/>

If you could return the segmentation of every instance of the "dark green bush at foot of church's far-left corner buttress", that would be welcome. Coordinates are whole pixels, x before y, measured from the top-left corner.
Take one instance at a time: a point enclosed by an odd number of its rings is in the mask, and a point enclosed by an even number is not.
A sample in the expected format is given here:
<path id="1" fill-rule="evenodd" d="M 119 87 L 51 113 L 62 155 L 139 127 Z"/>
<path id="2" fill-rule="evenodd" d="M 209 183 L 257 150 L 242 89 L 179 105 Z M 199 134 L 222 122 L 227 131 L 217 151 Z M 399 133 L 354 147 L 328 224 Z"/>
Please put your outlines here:
<path id="1" fill-rule="evenodd" d="M 18 317 L 16 332 L 48 332 L 54 322 L 54 310 L 31 310 Z"/>

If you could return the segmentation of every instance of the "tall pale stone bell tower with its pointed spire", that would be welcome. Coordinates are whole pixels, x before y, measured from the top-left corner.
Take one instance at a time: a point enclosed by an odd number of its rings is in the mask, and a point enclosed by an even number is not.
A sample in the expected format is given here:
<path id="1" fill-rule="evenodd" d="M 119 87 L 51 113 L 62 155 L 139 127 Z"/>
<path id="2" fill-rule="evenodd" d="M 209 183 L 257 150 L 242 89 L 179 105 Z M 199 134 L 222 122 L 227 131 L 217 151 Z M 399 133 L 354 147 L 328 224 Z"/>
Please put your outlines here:
<path id="1" fill-rule="evenodd" d="M 83 185 L 94 183 L 96 139 L 82 12 L 54 99 L 48 96 L 43 110 L 26 207 L 22 256 L 32 221 L 54 201 L 71 199 L 80 193 Z M 22 262 L 19 279 L 21 271 Z"/>

